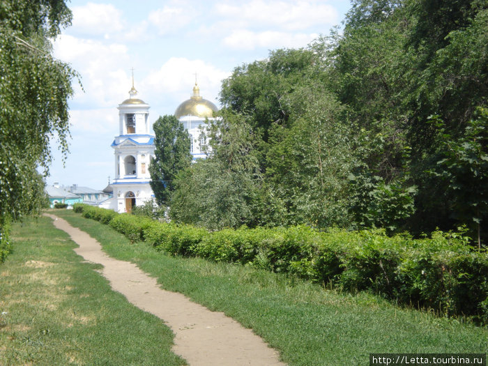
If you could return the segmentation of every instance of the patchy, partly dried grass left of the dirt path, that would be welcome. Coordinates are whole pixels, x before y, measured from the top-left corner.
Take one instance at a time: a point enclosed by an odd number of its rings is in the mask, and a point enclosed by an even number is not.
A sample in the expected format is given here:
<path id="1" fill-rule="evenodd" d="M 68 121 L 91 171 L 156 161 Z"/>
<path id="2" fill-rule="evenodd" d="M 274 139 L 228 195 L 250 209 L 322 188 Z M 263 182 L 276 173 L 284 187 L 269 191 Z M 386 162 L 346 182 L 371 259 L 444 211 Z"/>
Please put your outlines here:
<path id="1" fill-rule="evenodd" d="M 0 365 L 184 365 L 173 333 L 130 305 L 49 218 L 13 225 L 0 265 Z"/>

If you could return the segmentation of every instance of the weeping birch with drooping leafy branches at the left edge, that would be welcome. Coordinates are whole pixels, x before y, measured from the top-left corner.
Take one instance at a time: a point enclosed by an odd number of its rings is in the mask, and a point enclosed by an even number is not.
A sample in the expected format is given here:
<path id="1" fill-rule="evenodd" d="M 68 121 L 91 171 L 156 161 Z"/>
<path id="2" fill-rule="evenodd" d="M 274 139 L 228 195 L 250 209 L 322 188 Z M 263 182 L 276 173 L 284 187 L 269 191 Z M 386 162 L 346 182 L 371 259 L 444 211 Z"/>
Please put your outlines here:
<path id="1" fill-rule="evenodd" d="M 49 141 L 56 137 L 68 153 L 68 98 L 76 74 L 52 57 L 50 40 L 70 20 L 63 0 L 0 3 L 0 252 L 8 221 L 43 206 L 38 167 L 49 173 Z"/>

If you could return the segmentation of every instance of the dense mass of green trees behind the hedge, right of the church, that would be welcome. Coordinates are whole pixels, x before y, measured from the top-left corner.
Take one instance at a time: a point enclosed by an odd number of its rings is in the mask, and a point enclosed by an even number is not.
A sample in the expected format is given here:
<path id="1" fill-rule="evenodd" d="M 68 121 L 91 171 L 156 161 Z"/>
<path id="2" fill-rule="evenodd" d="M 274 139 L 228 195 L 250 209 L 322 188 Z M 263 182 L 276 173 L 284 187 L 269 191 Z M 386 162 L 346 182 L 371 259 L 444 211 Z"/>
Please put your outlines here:
<path id="1" fill-rule="evenodd" d="M 354 0 L 342 33 L 278 49 L 222 84 L 209 157 L 171 218 L 486 241 L 488 1 Z"/>

